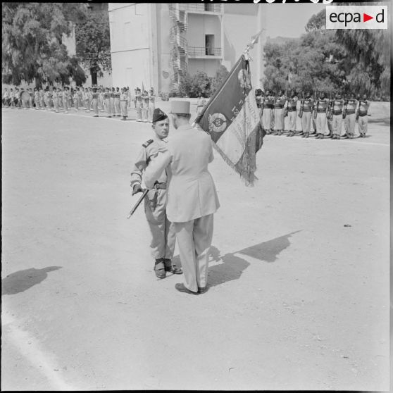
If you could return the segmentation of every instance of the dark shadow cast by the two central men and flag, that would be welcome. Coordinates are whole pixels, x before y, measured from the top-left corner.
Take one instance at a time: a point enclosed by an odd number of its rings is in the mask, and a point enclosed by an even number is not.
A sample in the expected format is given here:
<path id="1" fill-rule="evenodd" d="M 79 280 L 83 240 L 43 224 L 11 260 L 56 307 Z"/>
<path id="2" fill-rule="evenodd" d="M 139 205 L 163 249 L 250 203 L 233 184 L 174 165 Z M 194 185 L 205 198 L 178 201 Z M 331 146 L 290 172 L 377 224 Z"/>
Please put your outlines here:
<path id="1" fill-rule="evenodd" d="M 275 262 L 280 252 L 287 249 L 287 247 L 291 244 L 289 242 L 289 237 L 297 232 L 300 231 L 291 232 L 287 235 L 268 240 L 268 242 L 262 242 L 255 244 L 254 246 L 247 247 L 246 249 L 235 251 L 234 253 L 227 253 L 224 256 L 220 256 L 219 249 L 211 246 L 210 253 L 213 261 L 221 260 L 223 263 L 211 266 L 211 268 L 208 269 L 208 285 L 210 287 L 214 287 L 215 285 L 220 285 L 223 282 L 239 279 L 244 270 L 249 267 L 250 263 L 235 254 L 251 256 L 259 261 L 265 261 L 268 263 Z"/>

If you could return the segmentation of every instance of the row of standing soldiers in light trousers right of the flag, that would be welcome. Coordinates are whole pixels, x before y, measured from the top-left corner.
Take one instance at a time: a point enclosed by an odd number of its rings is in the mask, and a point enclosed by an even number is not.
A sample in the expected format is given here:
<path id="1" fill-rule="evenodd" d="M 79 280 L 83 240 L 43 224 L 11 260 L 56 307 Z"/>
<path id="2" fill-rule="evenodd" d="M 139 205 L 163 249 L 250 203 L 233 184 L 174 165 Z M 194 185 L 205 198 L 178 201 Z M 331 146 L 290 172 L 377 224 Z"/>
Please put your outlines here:
<path id="1" fill-rule="evenodd" d="M 270 89 L 266 92 L 256 89 L 255 95 L 261 123 L 267 134 L 282 135 L 287 132 L 287 137 L 293 137 L 297 134 L 297 116 L 299 116 L 301 119 L 299 135 L 304 138 L 316 135 L 316 139 L 325 137 L 352 139 L 355 137 L 356 121 L 359 137 L 366 137 L 368 116 L 370 116 L 368 114 L 370 101 L 367 94 L 356 98 L 352 92 L 345 97 L 341 92 L 336 92 L 328 97 L 325 92 L 316 92 L 312 97 L 311 91 L 306 91 L 299 97 L 294 90 L 286 95 L 282 90 L 273 94 Z M 285 118 L 288 119 L 287 130 L 285 130 Z M 313 132 L 311 132 L 311 125 Z M 344 134 L 342 134 L 342 125 L 344 125 Z"/>

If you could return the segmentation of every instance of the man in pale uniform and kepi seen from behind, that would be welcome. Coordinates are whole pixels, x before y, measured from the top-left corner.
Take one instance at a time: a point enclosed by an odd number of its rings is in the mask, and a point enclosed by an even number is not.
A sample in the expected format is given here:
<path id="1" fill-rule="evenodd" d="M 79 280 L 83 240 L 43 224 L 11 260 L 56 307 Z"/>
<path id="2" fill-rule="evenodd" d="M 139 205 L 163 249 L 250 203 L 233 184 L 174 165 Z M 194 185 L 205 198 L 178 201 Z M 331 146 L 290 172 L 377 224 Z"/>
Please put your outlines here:
<path id="1" fill-rule="evenodd" d="M 164 170 L 168 173 L 166 212 L 173 223 L 185 282 L 175 289 L 187 294 L 206 292 L 213 214 L 220 206 L 208 163 L 213 161 L 211 137 L 189 125 L 189 101 L 171 101 L 173 126 L 166 147 L 160 148 L 144 173 L 147 187 Z"/>

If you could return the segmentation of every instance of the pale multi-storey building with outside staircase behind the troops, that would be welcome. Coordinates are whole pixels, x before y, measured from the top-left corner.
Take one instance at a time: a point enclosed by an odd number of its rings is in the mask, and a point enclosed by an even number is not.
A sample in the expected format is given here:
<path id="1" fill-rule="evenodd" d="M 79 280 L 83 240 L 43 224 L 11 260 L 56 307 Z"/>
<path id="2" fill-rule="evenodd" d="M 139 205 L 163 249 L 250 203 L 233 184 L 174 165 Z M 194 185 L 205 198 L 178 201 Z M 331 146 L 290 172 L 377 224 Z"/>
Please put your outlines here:
<path id="1" fill-rule="evenodd" d="M 261 4 L 109 3 L 114 86 L 176 91 L 182 77 L 230 70 L 263 28 Z M 249 52 L 251 82 L 261 85 L 262 33 Z"/>

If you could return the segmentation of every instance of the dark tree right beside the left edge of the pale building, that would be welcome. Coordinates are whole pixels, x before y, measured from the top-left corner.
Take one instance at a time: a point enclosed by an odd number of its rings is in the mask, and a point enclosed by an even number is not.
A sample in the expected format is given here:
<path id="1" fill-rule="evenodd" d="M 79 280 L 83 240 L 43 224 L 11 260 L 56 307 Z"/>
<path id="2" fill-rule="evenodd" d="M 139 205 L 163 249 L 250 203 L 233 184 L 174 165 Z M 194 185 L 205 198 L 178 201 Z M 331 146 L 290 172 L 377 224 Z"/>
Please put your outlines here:
<path id="1" fill-rule="evenodd" d="M 82 64 L 90 70 L 92 84 L 97 75 L 111 71 L 111 37 L 108 12 L 87 11 L 75 27 L 77 54 Z"/>

